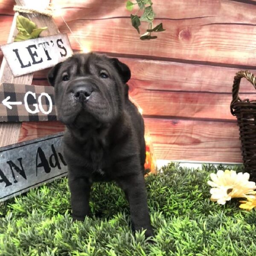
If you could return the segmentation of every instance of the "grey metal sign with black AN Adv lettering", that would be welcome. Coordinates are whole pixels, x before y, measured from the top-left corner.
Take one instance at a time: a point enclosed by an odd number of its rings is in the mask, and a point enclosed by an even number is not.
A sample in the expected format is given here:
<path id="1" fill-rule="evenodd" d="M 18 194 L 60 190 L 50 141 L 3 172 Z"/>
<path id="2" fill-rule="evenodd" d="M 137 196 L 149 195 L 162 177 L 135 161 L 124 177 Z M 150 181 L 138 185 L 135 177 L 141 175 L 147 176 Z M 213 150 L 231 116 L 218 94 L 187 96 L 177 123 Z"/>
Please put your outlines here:
<path id="1" fill-rule="evenodd" d="M 0 202 L 67 175 L 63 133 L 0 148 Z"/>

